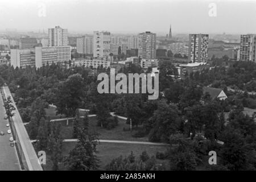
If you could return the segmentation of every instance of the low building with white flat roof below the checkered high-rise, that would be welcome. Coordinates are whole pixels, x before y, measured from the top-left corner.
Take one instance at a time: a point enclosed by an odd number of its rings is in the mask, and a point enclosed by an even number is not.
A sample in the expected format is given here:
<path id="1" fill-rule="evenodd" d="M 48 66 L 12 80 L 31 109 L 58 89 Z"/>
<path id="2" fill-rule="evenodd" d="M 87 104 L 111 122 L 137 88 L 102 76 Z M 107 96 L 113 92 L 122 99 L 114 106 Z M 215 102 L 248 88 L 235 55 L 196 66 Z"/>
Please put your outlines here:
<path id="1" fill-rule="evenodd" d="M 210 65 L 207 63 L 188 63 L 180 65 L 180 76 L 181 78 L 185 78 L 189 76 L 191 73 L 201 72 L 206 68 L 209 68 Z"/>

